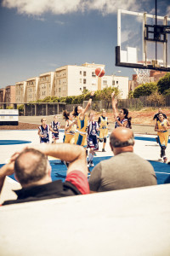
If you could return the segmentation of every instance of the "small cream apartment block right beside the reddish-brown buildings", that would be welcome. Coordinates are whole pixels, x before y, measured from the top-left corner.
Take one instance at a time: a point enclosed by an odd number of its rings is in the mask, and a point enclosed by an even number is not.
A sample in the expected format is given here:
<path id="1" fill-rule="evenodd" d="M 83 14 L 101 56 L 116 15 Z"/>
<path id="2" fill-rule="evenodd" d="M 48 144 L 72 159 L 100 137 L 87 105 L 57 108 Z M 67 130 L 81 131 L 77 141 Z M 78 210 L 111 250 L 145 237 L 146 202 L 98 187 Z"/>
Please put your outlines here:
<path id="1" fill-rule="evenodd" d="M 17 82 L 15 84 L 15 102 L 16 103 L 26 102 L 26 81 Z"/>

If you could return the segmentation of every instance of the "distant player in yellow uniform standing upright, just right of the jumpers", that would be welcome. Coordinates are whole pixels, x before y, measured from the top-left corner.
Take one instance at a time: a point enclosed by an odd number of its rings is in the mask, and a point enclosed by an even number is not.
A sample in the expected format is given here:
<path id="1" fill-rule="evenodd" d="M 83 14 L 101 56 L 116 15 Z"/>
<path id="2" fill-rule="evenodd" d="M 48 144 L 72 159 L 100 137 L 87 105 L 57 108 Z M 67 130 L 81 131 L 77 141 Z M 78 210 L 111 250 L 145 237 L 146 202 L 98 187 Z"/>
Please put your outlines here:
<path id="1" fill-rule="evenodd" d="M 98 125 L 99 125 L 99 142 L 103 143 L 102 152 L 105 152 L 105 144 L 106 144 L 106 138 L 108 136 L 108 118 L 105 116 L 105 109 L 102 112 L 102 115 L 98 119 Z"/>

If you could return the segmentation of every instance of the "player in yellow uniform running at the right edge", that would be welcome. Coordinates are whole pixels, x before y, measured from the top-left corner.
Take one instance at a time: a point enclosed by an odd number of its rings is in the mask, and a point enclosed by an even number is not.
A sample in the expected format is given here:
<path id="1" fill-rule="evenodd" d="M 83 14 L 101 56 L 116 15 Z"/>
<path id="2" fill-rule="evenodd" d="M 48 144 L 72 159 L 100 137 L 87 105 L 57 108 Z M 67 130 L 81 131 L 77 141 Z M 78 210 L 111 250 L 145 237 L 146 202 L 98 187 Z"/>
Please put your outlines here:
<path id="1" fill-rule="evenodd" d="M 163 158 L 164 163 L 167 162 L 167 156 L 165 149 L 167 148 L 168 142 L 168 128 L 170 128 L 167 119 L 164 119 L 163 114 L 158 114 L 158 121 L 156 121 L 155 131 L 157 131 L 158 143 L 161 147 L 161 158 Z"/>

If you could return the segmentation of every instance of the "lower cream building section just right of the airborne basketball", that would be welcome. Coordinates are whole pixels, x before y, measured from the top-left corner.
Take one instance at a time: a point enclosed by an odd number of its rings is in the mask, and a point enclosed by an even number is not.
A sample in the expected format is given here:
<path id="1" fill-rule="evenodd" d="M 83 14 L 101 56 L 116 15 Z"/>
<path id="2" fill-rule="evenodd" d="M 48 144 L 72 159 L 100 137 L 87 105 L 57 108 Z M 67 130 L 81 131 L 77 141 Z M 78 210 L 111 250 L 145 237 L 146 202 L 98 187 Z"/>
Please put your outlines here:
<path id="1" fill-rule="evenodd" d="M 120 90 L 120 98 L 127 99 L 128 96 L 128 77 L 122 76 L 103 76 L 99 79 L 99 89 L 103 90 L 107 87 L 117 87 Z"/>

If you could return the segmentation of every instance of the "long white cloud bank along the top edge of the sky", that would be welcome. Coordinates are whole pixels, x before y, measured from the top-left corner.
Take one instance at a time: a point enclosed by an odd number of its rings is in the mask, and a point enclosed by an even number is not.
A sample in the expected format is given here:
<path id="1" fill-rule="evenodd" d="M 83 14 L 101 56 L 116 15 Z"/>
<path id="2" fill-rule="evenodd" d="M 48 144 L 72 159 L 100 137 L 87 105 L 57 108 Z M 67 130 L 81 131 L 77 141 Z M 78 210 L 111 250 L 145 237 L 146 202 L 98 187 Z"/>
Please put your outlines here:
<path id="1" fill-rule="evenodd" d="M 65 15 L 74 12 L 98 10 L 102 15 L 116 13 L 117 9 L 135 10 L 139 0 L 3 0 L 3 7 L 17 9 L 24 15 Z"/>

